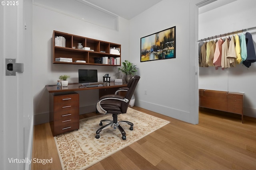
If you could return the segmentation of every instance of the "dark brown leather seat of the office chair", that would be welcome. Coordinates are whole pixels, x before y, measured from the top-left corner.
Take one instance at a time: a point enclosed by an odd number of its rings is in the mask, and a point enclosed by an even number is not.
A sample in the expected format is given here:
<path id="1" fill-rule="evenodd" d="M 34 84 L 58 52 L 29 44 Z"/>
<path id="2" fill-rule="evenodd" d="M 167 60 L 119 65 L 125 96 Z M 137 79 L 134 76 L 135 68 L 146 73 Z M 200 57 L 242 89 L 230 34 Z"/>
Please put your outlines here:
<path id="1" fill-rule="evenodd" d="M 104 100 L 101 102 L 101 107 L 110 114 L 121 114 L 121 101 Z"/>

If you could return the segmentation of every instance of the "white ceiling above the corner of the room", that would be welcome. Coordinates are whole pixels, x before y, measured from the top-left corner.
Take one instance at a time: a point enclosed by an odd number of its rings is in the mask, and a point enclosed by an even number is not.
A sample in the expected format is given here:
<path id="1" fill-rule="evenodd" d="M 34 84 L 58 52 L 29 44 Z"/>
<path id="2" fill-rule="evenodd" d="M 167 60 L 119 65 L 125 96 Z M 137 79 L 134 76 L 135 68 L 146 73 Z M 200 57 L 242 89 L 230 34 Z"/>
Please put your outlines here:
<path id="1" fill-rule="evenodd" d="M 162 0 L 83 0 L 130 20 Z"/>

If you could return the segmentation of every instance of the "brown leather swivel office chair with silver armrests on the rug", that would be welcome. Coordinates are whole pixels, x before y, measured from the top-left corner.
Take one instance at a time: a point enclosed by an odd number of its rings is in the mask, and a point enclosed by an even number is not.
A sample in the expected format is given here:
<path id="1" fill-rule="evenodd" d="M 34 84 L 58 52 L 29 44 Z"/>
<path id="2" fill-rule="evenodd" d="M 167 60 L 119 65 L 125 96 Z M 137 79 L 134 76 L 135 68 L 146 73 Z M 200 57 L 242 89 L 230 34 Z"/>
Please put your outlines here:
<path id="1" fill-rule="evenodd" d="M 102 114 L 112 114 L 113 120 L 106 119 L 100 121 L 100 125 L 102 125 L 102 122 L 108 122 L 108 124 L 102 126 L 96 131 L 96 139 L 100 138 L 100 132 L 102 131 L 102 129 L 109 126 L 112 127 L 114 125 L 114 127 L 119 129 L 119 131 L 122 133 L 122 139 L 126 140 L 126 133 L 124 129 L 119 125 L 119 123 L 127 123 L 128 125 L 130 125 L 131 131 L 133 130 L 133 123 L 129 121 L 118 121 L 117 115 L 126 113 L 129 102 L 132 98 L 132 95 L 139 80 L 140 76 L 132 76 L 127 84 L 127 87 L 119 88 L 115 94 L 105 95 L 99 99 L 96 104 L 97 111 Z M 117 93 L 120 91 L 127 91 L 126 95 L 117 95 Z"/>

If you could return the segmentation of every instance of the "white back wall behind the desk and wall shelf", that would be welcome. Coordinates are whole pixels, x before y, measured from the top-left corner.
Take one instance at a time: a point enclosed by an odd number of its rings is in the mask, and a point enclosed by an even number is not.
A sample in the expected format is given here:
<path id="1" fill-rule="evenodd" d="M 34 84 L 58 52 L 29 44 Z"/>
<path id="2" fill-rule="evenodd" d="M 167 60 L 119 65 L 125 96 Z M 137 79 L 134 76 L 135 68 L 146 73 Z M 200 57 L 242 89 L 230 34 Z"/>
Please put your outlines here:
<path id="1" fill-rule="evenodd" d="M 93 17 L 92 14 L 88 17 Z M 97 69 L 98 81 L 103 81 L 106 73 L 111 80 L 118 78 L 116 66 L 90 66 L 72 64 L 52 64 L 52 32 L 62 31 L 83 37 L 99 39 L 122 45 L 122 61 L 129 57 L 128 20 L 119 18 L 119 31 L 95 25 L 59 12 L 33 5 L 33 94 L 35 124 L 49 121 L 49 93 L 47 84 L 56 84 L 61 74 L 70 75 L 69 83 L 78 82 L 78 69 Z M 95 110 L 98 90 L 79 92 L 80 113 L 83 107 Z M 96 94 L 95 94 L 96 93 Z M 91 95 L 92 94 L 92 95 Z M 90 97 L 87 97 L 90 96 Z M 92 96 L 95 96 L 92 98 Z"/>

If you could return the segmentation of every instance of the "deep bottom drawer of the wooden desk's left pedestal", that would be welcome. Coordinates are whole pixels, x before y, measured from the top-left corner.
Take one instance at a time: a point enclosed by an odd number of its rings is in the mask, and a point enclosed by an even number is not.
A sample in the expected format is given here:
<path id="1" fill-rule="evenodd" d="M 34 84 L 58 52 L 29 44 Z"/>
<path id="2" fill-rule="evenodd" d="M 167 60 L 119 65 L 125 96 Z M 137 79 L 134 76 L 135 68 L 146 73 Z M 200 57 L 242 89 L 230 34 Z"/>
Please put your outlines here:
<path id="1" fill-rule="evenodd" d="M 79 129 L 79 116 L 54 121 L 54 136 Z"/>

